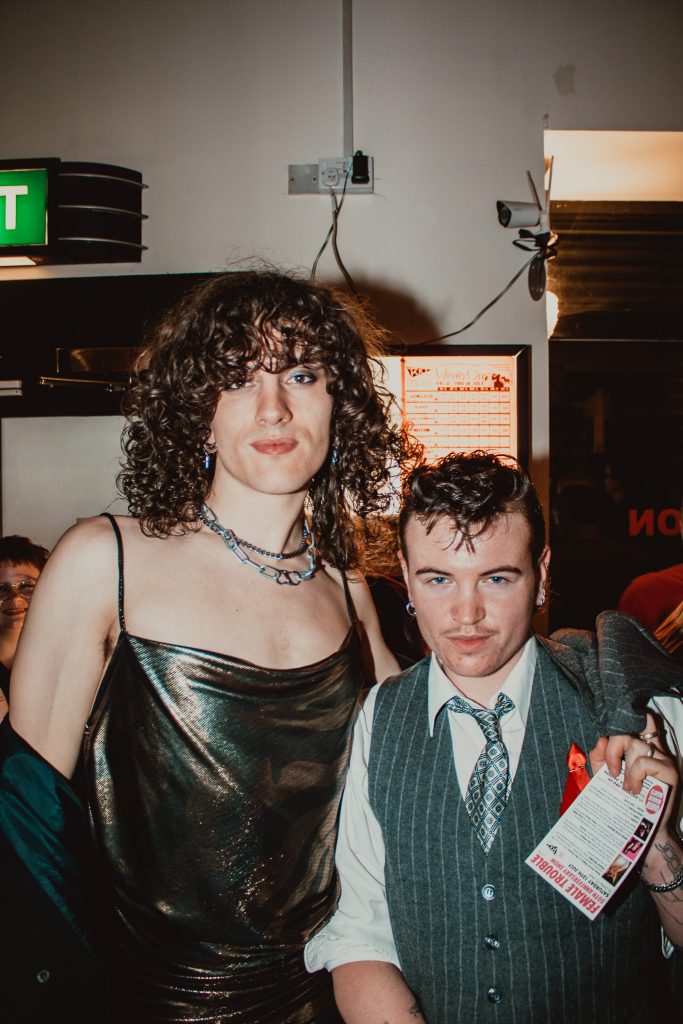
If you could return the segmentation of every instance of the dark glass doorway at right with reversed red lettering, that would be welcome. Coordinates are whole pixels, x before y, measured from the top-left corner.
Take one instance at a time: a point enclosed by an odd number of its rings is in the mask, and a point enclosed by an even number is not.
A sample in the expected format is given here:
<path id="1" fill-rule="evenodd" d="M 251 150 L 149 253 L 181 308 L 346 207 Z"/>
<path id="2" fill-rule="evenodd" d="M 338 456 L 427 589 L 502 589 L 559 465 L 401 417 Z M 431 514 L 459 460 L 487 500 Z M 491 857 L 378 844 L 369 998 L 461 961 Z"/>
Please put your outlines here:
<path id="1" fill-rule="evenodd" d="M 550 627 L 590 629 L 683 562 L 683 204 L 554 206 Z"/>

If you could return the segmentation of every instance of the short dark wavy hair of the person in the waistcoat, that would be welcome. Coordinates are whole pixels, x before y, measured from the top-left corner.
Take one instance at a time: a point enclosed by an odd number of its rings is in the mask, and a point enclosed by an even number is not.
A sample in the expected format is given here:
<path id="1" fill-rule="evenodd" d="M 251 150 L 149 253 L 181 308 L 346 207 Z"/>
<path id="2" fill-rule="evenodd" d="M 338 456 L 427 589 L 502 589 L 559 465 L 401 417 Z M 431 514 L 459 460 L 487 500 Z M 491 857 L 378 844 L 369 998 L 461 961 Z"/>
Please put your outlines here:
<path id="1" fill-rule="evenodd" d="M 403 484 L 398 536 L 405 554 L 405 527 L 415 516 L 430 532 L 446 517 L 471 548 L 472 542 L 501 516 L 520 512 L 529 527 L 536 565 L 546 546 L 543 508 L 526 470 L 514 459 L 488 452 L 455 452 L 431 465 L 421 465 Z"/>

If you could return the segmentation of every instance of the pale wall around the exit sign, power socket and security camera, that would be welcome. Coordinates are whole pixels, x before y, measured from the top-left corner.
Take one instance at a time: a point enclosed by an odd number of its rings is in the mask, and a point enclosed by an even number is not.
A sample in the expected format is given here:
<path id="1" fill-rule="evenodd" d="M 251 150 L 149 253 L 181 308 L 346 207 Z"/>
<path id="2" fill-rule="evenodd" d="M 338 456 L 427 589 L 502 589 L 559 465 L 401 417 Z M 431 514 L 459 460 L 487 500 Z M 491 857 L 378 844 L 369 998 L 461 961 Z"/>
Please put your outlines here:
<path id="1" fill-rule="evenodd" d="M 0 157 L 142 171 L 139 267 L 215 269 L 251 254 L 310 265 L 329 200 L 289 197 L 287 166 L 341 153 L 341 0 L 33 0 L 2 20 Z M 340 248 L 411 341 L 469 321 L 520 266 L 499 197 L 525 198 L 543 129 L 681 128 L 680 0 L 355 0 L 356 147 Z M 322 273 L 333 276 L 326 257 Z M 393 315 L 392 315 L 393 311 Z M 464 342 L 533 346 L 532 444 L 548 453 L 543 303 L 523 281 Z"/>

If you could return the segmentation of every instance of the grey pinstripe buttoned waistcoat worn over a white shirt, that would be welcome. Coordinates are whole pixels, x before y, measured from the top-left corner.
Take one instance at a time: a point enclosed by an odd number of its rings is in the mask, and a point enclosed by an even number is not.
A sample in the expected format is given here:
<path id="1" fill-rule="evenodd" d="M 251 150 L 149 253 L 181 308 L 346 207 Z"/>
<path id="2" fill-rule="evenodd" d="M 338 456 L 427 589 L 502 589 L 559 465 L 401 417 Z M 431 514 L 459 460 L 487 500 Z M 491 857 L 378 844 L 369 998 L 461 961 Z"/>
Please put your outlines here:
<path id="1" fill-rule="evenodd" d="M 486 856 L 460 795 L 447 713 L 428 734 L 428 665 L 380 689 L 369 776 L 401 969 L 428 1024 L 651 1020 L 663 958 L 644 887 L 627 883 L 591 923 L 524 864 L 559 815 L 570 742 L 595 744 L 581 696 L 540 645 L 511 799 Z"/>

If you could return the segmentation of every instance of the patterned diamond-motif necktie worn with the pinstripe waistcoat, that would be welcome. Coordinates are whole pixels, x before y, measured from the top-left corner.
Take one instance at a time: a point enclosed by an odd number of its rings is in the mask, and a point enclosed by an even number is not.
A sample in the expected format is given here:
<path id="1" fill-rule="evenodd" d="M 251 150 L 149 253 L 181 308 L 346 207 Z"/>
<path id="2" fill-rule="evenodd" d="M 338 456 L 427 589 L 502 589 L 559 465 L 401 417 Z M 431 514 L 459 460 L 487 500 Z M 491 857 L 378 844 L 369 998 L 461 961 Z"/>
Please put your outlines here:
<path id="1" fill-rule="evenodd" d="M 501 718 L 514 711 L 514 703 L 499 693 L 493 711 L 473 708 L 462 697 L 451 697 L 449 711 L 471 715 L 484 734 L 485 745 L 477 758 L 467 787 L 465 807 L 484 853 L 490 850 L 508 802 L 510 764 L 508 749 L 501 736 Z"/>

